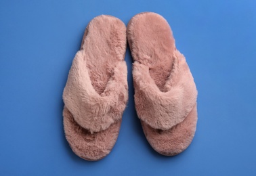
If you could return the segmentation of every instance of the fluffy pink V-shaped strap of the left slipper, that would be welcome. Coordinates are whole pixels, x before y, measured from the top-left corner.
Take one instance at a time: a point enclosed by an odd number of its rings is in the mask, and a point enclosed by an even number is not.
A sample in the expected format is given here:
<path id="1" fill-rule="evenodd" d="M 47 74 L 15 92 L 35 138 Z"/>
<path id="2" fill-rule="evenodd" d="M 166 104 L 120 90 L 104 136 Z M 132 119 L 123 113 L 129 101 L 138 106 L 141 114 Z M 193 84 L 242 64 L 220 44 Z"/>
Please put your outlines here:
<path id="1" fill-rule="evenodd" d="M 117 62 L 106 89 L 99 95 L 91 85 L 85 57 L 83 51 L 77 52 L 63 100 L 74 120 L 93 133 L 108 129 L 121 119 L 128 100 L 127 66 L 125 61 Z"/>

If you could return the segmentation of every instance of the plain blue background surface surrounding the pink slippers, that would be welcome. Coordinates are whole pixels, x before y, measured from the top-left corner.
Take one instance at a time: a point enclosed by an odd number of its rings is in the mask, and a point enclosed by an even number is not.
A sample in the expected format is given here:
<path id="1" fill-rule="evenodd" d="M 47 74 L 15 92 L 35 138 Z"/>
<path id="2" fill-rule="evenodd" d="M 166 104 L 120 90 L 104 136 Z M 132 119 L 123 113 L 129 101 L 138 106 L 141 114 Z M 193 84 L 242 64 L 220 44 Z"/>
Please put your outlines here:
<path id="1" fill-rule="evenodd" d="M 88 22 L 167 19 L 198 88 L 198 126 L 174 157 L 149 146 L 133 101 L 98 162 L 64 137 L 62 91 Z M 256 1 L 0 1 L 0 175 L 256 175 Z"/>

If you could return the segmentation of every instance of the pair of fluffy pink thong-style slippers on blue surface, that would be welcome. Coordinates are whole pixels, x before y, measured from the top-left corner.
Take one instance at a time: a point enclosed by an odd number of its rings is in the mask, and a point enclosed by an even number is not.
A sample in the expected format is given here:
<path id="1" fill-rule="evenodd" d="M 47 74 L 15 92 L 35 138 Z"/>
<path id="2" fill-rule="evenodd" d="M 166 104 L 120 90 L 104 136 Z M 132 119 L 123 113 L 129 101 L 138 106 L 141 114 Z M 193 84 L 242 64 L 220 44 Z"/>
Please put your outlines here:
<path id="1" fill-rule="evenodd" d="M 196 85 L 162 16 L 145 12 L 127 28 L 112 16 L 89 22 L 64 88 L 64 131 L 73 152 L 85 160 L 110 153 L 128 100 L 127 40 L 133 58 L 135 108 L 149 144 L 173 156 L 196 131 Z"/>

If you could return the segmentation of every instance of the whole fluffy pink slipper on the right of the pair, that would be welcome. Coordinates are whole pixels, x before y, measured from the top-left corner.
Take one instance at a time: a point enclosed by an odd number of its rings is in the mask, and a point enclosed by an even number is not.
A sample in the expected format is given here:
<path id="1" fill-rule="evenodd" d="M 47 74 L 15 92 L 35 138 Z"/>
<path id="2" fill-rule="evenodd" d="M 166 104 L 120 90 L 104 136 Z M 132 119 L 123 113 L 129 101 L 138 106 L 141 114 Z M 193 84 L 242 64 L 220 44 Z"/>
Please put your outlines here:
<path id="1" fill-rule="evenodd" d="M 196 131 L 196 85 L 162 16 L 137 14 L 127 27 L 133 63 L 135 108 L 156 152 L 184 151 Z"/>

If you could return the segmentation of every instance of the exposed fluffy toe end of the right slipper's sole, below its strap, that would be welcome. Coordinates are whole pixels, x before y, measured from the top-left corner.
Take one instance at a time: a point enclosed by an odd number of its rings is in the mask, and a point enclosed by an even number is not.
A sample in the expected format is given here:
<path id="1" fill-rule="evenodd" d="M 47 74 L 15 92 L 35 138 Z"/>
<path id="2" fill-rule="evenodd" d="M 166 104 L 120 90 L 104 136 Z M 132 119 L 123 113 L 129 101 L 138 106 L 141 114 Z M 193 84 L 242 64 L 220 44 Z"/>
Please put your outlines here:
<path id="1" fill-rule="evenodd" d="M 159 154 L 175 156 L 190 146 L 196 132 L 197 111 L 196 106 L 182 123 L 169 130 L 153 129 L 142 122 L 142 128 L 150 146 Z"/>

